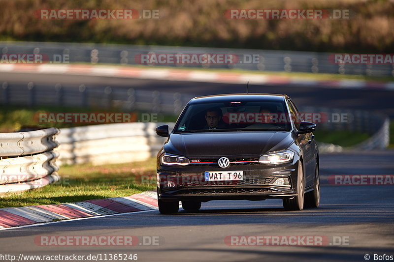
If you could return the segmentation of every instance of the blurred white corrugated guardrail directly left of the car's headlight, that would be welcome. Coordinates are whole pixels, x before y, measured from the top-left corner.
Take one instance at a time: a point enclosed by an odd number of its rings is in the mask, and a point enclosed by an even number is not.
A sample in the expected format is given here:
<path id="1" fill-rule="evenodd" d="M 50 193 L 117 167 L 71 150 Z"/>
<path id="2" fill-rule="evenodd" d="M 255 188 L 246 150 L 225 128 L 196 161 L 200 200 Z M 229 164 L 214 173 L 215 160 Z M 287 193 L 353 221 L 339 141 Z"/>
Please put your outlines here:
<path id="1" fill-rule="evenodd" d="M 62 128 L 59 164 L 94 165 L 143 161 L 155 156 L 165 138 L 155 133 L 165 123 L 115 123 Z M 173 126 L 173 123 L 170 123 Z"/>

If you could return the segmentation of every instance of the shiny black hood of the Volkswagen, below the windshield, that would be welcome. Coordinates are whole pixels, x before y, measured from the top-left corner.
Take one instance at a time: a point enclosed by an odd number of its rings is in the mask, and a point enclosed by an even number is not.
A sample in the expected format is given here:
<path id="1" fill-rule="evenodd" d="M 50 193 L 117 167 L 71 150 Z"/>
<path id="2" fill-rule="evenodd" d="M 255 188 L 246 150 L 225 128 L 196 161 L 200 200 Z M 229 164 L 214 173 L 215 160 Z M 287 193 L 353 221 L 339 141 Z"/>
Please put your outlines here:
<path id="1" fill-rule="evenodd" d="M 286 149 L 293 141 L 291 132 L 284 131 L 171 134 L 164 151 L 188 157 L 261 155 Z"/>

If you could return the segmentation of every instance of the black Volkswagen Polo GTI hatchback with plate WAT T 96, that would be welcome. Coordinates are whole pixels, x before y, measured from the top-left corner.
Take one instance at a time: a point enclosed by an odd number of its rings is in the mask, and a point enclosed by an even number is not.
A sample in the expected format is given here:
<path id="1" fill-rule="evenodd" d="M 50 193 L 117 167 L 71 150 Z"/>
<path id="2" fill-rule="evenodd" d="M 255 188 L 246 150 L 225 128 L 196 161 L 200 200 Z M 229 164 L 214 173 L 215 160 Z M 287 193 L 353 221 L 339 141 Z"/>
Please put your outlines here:
<path id="1" fill-rule="evenodd" d="M 196 97 L 157 155 L 161 213 L 198 210 L 212 200 L 280 198 L 287 210 L 318 207 L 316 124 L 303 121 L 287 95 Z"/>

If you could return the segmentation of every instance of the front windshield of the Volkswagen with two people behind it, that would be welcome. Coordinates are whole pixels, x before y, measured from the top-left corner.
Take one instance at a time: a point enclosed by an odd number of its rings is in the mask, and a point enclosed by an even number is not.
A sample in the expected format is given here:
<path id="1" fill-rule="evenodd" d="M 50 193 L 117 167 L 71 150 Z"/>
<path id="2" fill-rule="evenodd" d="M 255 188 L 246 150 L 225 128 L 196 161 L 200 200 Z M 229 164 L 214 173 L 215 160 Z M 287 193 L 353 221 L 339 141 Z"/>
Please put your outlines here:
<path id="1" fill-rule="evenodd" d="M 228 101 L 188 105 L 174 133 L 290 130 L 284 101 Z"/>

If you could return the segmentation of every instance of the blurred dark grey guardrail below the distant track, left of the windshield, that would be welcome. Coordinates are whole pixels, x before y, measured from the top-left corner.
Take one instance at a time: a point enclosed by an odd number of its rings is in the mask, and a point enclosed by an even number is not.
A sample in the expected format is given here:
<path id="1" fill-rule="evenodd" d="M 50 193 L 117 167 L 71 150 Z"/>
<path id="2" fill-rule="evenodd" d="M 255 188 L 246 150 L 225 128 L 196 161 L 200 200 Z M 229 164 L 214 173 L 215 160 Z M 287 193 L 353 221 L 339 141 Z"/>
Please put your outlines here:
<path id="1" fill-rule="evenodd" d="M 178 115 L 192 94 L 150 91 L 123 87 L 90 87 L 61 84 L 28 85 L 3 82 L 0 88 L 2 105 L 51 105 L 69 107 L 117 108 L 123 111 L 143 111 Z"/>

